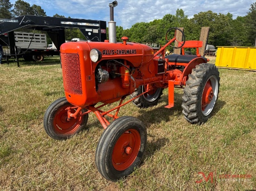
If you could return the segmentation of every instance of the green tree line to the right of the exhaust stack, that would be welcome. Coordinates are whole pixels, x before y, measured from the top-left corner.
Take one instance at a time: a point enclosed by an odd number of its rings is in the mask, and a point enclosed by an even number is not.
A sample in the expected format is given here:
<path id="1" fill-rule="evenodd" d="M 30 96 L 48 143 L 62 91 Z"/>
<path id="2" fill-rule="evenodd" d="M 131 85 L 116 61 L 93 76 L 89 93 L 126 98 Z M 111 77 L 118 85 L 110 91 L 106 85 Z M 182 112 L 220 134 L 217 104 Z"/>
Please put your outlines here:
<path id="1" fill-rule="evenodd" d="M 171 27 L 183 27 L 186 40 L 198 40 L 201 27 L 209 26 L 208 44 L 214 46 L 255 46 L 256 41 L 256 2 L 252 4 L 246 16 L 233 19 L 231 13 L 222 14 L 212 11 L 200 12 L 188 19 L 182 9 L 176 14 L 166 14 L 162 19 L 140 22 L 129 29 L 117 27 L 117 38 L 129 37 L 139 43 L 166 43 L 165 33 Z"/>

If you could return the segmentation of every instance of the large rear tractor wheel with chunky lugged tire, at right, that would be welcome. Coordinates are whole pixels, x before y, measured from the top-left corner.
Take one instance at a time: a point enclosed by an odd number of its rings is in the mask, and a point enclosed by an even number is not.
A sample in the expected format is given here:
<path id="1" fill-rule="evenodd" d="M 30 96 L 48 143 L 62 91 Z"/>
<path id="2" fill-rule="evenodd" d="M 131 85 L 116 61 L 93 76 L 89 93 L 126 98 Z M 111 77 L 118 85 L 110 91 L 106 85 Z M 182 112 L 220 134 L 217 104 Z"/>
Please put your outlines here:
<path id="1" fill-rule="evenodd" d="M 213 64 L 199 64 L 189 74 L 182 96 L 182 113 L 190 123 L 206 122 L 218 99 L 219 71 Z"/>

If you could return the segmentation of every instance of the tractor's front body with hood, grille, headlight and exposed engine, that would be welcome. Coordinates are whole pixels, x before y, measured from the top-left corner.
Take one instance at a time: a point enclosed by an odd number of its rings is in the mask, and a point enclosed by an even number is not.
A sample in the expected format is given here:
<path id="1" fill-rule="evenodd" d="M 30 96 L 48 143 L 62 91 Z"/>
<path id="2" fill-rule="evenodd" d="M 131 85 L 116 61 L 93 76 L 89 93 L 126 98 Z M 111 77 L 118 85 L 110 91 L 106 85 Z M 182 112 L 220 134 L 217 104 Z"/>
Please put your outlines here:
<path id="1" fill-rule="evenodd" d="M 111 103 L 130 95 L 138 67 L 150 65 L 155 76 L 154 51 L 138 43 L 68 42 L 61 45 L 63 84 L 67 101 L 80 107 Z M 148 67 L 147 67 L 148 69 Z M 134 75 L 133 75 L 134 74 Z M 133 76 L 132 76 L 133 75 Z"/>

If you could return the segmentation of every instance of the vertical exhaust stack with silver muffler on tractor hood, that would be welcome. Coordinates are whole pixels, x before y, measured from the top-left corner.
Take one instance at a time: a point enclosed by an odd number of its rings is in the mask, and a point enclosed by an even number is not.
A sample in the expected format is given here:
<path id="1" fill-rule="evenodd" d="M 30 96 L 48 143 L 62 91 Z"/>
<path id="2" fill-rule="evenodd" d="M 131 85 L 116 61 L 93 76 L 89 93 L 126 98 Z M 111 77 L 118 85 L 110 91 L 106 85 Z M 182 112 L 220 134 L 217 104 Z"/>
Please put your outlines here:
<path id="1" fill-rule="evenodd" d="M 117 1 L 108 4 L 110 7 L 110 21 L 108 22 L 108 39 L 110 43 L 116 43 L 116 22 L 114 21 L 114 7 Z"/>

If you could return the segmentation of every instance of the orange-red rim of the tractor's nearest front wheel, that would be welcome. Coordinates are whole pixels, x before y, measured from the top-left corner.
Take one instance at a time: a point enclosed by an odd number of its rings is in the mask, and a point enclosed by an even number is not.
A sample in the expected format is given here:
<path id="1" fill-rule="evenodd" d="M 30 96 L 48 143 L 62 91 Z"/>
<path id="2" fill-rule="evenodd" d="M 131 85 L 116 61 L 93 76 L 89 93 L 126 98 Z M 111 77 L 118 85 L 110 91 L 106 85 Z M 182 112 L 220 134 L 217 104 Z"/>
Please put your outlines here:
<path id="1" fill-rule="evenodd" d="M 129 129 L 121 134 L 116 141 L 112 164 L 117 171 L 123 171 L 133 164 L 141 147 L 140 133 L 135 129 Z"/>

